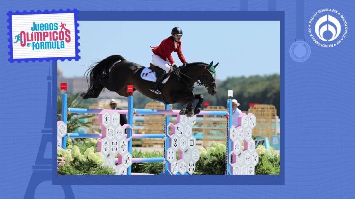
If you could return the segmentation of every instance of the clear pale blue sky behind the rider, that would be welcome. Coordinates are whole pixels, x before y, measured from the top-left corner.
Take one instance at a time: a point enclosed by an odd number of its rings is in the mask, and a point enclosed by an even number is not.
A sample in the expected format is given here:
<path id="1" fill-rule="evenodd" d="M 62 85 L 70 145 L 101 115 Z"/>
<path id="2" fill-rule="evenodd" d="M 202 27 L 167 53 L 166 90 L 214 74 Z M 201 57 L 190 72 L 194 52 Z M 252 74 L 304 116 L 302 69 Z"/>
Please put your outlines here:
<path id="1" fill-rule="evenodd" d="M 217 79 L 280 73 L 278 21 L 79 21 L 79 61 L 58 61 L 65 77 L 84 75 L 87 65 L 110 55 L 148 66 L 150 46 L 182 28 L 187 62 L 219 62 Z M 172 53 L 178 66 L 177 53 Z"/>

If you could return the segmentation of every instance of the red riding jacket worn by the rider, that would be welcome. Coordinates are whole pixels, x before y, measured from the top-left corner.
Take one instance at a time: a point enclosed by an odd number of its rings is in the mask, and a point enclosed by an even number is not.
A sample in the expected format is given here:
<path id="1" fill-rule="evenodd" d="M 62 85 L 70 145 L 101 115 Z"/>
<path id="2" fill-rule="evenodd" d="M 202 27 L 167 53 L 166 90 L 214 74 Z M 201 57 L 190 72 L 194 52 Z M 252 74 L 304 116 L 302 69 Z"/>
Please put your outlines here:
<path id="1" fill-rule="evenodd" d="M 166 60 L 168 58 L 170 64 L 175 63 L 173 57 L 171 56 L 171 53 L 178 52 L 178 57 L 180 58 L 181 62 L 186 62 L 181 50 L 181 41 L 178 42 L 177 48 L 175 48 L 174 38 L 172 36 L 164 39 L 159 46 L 153 47 L 152 51 L 155 55 L 158 55 L 163 60 Z"/>

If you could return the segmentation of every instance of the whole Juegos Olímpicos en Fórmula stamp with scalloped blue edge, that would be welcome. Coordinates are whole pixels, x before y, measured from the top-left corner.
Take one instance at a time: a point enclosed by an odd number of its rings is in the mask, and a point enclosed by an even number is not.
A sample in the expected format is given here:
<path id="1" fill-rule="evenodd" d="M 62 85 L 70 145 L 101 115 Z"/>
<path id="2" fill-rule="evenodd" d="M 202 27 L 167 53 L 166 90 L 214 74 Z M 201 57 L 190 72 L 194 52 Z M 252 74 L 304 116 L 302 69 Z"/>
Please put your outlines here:
<path id="1" fill-rule="evenodd" d="M 10 62 L 79 60 L 77 10 L 9 12 Z"/>

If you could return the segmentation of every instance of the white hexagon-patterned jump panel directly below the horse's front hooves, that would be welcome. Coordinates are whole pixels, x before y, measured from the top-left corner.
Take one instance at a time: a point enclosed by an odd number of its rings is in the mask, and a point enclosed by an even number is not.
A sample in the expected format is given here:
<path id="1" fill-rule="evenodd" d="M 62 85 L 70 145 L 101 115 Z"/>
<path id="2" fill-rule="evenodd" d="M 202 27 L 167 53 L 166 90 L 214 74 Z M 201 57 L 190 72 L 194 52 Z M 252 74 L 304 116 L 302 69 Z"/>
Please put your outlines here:
<path id="1" fill-rule="evenodd" d="M 196 115 L 189 118 L 181 115 L 180 122 L 172 127 L 167 160 L 168 169 L 174 175 L 193 174 L 195 171 L 196 162 L 200 158 L 199 150 L 196 148 L 196 138 L 192 135 L 192 127 L 195 124 Z"/>

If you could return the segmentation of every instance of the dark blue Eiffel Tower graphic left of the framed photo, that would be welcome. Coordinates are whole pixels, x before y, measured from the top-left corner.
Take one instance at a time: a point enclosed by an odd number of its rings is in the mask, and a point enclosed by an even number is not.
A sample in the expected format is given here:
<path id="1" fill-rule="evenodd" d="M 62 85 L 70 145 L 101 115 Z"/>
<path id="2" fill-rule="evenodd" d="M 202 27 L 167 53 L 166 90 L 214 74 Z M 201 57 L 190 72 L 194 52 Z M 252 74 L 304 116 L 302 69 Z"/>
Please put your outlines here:
<path id="1" fill-rule="evenodd" d="M 55 69 L 56 67 L 53 67 Z M 26 193 L 24 196 L 24 199 L 33 199 L 35 197 L 35 191 L 37 186 L 44 182 L 44 181 L 52 181 L 52 164 L 53 164 L 53 159 L 52 158 L 44 158 L 44 153 L 46 150 L 46 146 L 48 142 L 52 143 L 52 135 L 53 134 L 53 128 L 52 128 L 52 99 L 51 99 L 51 94 L 52 94 L 52 76 L 50 76 L 50 71 L 48 71 L 48 76 L 47 76 L 47 82 L 48 82 L 48 89 L 47 89 L 47 111 L 46 111 L 46 117 L 45 117 L 45 122 L 44 122 L 44 128 L 42 129 L 42 139 L 39 145 L 39 150 L 37 154 L 37 159 L 36 163 L 34 166 L 32 166 L 32 175 L 30 178 L 30 182 L 27 186 Z M 54 94 L 53 94 L 54 95 Z M 52 143 L 53 144 L 53 143 Z M 55 143 L 57 145 L 57 143 Z M 56 149 L 57 147 L 55 147 Z M 64 195 L 65 198 L 67 199 L 73 199 L 74 193 L 71 189 L 70 185 L 61 185 L 63 190 L 64 190 Z"/>

